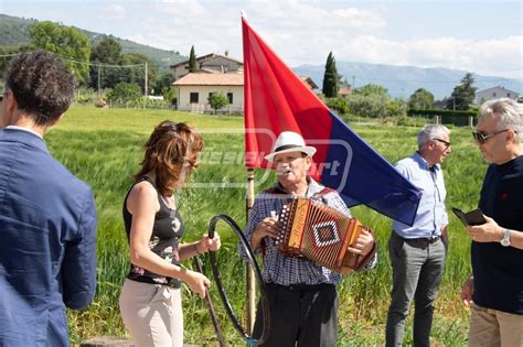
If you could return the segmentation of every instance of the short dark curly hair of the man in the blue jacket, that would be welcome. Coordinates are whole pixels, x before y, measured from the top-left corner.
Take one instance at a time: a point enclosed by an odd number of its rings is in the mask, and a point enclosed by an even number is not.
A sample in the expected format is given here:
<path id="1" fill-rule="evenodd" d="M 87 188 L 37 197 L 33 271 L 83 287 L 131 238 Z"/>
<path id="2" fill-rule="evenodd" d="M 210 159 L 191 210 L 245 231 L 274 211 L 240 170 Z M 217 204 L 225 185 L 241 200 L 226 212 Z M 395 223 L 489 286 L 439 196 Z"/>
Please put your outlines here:
<path id="1" fill-rule="evenodd" d="M 39 50 L 11 61 L 6 73 L 8 90 L 35 124 L 51 126 L 70 108 L 75 79 L 61 58 Z"/>

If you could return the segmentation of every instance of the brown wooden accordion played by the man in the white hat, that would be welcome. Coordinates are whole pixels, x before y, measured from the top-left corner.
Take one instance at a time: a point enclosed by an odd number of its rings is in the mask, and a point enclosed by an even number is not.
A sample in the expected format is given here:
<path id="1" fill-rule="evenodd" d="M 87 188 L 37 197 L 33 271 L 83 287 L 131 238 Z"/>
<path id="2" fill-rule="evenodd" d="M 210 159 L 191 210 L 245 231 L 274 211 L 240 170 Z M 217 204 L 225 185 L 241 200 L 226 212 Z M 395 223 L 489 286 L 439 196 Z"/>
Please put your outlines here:
<path id="1" fill-rule="evenodd" d="M 346 274 L 357 268 L 360 256 L 352 247 L 362 230 L 370 230 L 319 202 L 295 198 L 281 210 L 275 243 L 285 256 L 303 257 L 314 263 Z"/>

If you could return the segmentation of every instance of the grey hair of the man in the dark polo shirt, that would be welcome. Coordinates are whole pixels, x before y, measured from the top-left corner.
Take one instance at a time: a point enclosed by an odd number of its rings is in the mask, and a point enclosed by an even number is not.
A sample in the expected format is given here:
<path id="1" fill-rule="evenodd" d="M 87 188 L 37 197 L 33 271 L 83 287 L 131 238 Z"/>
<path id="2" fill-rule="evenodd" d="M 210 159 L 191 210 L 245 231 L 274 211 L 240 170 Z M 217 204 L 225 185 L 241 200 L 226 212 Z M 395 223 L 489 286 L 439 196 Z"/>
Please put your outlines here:
<path id="1" fill-rule="evenodd" d="M 498 115 L 497 131 L 512 129 L 517 142 L 523 142 L 523 105 L 509 98 L 485 101 L 480 108 L 480 119 Z"/>

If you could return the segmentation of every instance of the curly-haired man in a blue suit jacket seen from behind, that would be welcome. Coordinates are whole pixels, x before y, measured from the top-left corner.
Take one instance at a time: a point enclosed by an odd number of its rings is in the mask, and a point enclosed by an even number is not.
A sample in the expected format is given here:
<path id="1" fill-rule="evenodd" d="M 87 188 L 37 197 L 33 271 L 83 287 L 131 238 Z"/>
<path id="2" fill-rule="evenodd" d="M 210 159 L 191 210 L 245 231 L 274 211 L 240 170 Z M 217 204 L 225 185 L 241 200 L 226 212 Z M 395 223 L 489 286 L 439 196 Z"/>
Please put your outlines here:
<path id="1" fill-rule="evenodd" d="M 64 304 L 96 288 L 90 188 L 51 156 L 43 134 L 68 109 L 75 80 L 36 51 L 15 56 L 0 101 L 0 346 L 67 346 Z"/>

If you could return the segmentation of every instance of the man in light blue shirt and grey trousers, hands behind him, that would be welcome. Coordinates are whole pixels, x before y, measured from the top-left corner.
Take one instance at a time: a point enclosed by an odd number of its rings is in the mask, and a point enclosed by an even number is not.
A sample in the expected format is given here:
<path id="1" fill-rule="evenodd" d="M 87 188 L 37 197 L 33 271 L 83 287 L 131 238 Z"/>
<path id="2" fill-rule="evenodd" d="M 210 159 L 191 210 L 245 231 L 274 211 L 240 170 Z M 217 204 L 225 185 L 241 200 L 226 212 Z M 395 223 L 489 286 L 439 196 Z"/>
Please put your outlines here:
<path id="1" fill-rule="evenodd" d="M 393 289 L 386 346 L 402 346 L 413 299 L 414 346 L 430 346 L 434 301 L 441 282 L 448 240 L 447 192 L 440 164 L 451 151 L 449 137 L 444 126 L 425 126 L 418 133 L 418 151 L 396 164 L 396 170 L 423 194 L 414 225 L 394 221 L 388 240 Z"/>

